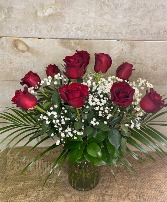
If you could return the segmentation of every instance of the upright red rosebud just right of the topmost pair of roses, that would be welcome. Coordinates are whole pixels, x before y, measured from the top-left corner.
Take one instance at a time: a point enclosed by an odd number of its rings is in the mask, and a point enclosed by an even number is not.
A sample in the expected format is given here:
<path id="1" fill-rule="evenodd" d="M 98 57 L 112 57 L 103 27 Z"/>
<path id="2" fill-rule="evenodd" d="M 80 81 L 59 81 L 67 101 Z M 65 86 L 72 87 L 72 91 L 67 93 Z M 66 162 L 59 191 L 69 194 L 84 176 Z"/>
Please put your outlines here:
<path id="1" fill-rule="evenodd" d="M 95 53 L 94 70 L 96 73 L 99 73 L 99 72 L 106 73 L 107 70 L 111 67 L 111 64 L 112 64 L 112 59 L 108 54 Z"/>

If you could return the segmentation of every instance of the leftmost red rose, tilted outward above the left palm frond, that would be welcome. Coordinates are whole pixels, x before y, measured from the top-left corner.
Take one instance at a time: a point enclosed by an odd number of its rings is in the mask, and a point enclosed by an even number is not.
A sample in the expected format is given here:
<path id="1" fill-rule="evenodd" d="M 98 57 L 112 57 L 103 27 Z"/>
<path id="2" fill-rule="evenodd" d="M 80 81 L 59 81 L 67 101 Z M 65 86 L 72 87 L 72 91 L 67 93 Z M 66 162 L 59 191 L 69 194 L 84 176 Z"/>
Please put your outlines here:
<path id="1" fill-rule="evenodd" d="M 28 89 L 25 87 L 24 91 L 16 90 L 15 96 L 11 100 L 17 107 L 23 109 L 33 109 L 37 104 L 37 98 L 28 92 Z"/>

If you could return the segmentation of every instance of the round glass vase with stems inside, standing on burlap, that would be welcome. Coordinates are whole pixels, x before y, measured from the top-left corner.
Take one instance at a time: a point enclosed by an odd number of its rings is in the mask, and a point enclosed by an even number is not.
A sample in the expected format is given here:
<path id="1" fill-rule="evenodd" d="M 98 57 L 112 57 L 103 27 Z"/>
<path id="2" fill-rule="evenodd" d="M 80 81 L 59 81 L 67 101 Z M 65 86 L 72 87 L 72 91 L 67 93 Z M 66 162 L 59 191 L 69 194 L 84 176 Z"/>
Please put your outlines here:
<path id="1" fill-rule="evenodd" d="M 95 188 L 99 182 L 99 166 L 87 161 L 77 164 L 69 163 L 68 181 L 78 191 L 88 191 Z"/>

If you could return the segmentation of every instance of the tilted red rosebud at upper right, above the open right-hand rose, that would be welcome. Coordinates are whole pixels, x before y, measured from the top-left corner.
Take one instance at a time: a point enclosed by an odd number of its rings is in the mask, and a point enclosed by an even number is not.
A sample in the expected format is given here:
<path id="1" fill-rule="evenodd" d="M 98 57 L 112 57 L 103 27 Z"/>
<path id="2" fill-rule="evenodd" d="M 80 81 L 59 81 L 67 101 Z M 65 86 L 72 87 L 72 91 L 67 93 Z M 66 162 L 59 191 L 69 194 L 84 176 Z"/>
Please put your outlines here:
<path id="1" fill-rule="evenodd" d="M 120 65 L 116 70 L 116 76 L 123 80 L 128 80 L 129 77 L 132 75 L 132 64 L 127 62 Z"/>

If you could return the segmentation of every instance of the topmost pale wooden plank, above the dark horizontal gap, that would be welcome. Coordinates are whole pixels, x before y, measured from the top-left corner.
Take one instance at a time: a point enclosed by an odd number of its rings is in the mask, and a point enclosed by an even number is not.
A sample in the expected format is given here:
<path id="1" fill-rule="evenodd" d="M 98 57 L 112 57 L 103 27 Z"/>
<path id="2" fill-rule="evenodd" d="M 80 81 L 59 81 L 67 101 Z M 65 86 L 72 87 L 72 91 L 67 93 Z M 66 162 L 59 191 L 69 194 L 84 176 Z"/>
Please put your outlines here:
<path id="1" fill-rule="evenodd" d="M 0 36 L 167 40 L 166 0 L 1 0 Z"/>

